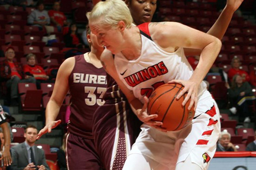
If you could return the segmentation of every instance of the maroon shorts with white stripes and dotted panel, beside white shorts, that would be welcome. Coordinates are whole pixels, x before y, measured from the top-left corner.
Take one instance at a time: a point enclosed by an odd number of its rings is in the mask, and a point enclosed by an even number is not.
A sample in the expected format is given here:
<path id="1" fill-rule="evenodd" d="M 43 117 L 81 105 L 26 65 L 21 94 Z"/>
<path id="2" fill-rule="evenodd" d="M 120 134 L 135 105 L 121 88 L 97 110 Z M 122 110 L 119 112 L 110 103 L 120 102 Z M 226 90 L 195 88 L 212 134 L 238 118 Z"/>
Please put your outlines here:
<path id="1" fill-rule="evenodd" d="M 121 170 L 142 123 L 128 102 L 106 102 L 93 115 L 93 137 L 105 170 Z"/>

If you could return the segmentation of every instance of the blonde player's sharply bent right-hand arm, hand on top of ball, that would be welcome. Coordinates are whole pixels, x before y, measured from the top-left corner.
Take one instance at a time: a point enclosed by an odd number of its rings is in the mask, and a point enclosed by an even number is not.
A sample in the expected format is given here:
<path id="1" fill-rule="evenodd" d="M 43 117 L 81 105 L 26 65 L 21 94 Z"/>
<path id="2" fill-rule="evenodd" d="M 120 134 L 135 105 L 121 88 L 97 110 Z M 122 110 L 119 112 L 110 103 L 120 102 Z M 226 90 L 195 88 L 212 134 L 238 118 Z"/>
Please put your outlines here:
<path id="1" fill-rule="evenodd" d="M 177 99 L 188 92 L 182 105 L 184 106 L 191 98 L 188 109 L 190 110 L 193 104 L 196 108 L 198 87 L 219 54 L 221 41 L 214 36 L 176 22 L 150 24 L 149 30 L 154 42 L 162 49 L 182 47 L 202 50 L 199 63 L 191 78 L 188 81 L 174 80 L 170 82 L 184 85 L 184 89 L 178 94 Z"/>

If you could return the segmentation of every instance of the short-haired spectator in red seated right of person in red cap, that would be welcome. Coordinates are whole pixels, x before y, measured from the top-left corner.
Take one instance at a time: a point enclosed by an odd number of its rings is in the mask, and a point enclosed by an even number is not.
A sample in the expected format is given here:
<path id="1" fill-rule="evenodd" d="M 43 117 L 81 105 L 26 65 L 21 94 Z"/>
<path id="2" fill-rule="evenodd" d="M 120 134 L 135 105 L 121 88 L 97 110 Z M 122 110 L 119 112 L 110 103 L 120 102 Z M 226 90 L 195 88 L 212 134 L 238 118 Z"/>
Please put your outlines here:
<path id="1" fill-rule="evenodd" d="M 36 65 L 36 56 L 30 53 L 26 56 L 27 64 L 23 67 L 24 72 L 28 76 L 35 77 L 37 88 L 40 89 L 41 83 L 54 83 L 54 81 L 49 80 L 49 76 L 39 65 Z"/>

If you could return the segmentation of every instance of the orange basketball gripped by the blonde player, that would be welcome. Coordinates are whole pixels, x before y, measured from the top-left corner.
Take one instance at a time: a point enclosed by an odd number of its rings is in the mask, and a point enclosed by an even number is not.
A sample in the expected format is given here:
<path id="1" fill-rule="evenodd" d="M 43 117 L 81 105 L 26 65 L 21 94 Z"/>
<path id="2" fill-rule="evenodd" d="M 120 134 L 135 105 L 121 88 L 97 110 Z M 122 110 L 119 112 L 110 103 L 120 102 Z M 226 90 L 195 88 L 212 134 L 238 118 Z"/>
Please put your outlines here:
<path id="1" fill-rule="evenodd" d="M 186 127 L 195 115 L 194 107 L 188 110 L 189 101 L 185 106 L 182 102 L 187 96 L 185 93 L 179 100 L 176 99 L 184 86 L 180 84 L 164 84 L 155 89 L 148 101 L 148 113 L 157 114 L 154 121 L 161 121 L 161 127 L 167 131 L 177 131 Z"/>

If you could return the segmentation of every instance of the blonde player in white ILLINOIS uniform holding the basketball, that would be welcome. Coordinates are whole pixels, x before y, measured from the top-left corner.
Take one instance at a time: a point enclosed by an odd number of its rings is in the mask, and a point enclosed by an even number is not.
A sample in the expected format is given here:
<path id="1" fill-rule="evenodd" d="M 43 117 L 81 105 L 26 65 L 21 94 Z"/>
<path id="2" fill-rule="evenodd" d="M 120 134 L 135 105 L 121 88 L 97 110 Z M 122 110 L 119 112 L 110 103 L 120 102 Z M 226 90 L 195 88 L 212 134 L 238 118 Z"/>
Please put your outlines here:
<path id="1" fill-rule="evenodd" d="M 92 32 L 106 47 L 101 57 L 106 71 L 124 92 L 137 117 L 144 122 L 123 170 L 207 169 L 215 153 L 220 123 L 217 104 L 202 80 L 220 51 L 220 40 L 174 22 L 133 27 L 130 12 L 121 0 L 100 2 L 88 16 Z M 202 50 L 194 72 L 183 48 Z M 168 72 L 139 78 L 138 72 L 160 62 Z M 141 89 L 152 88 L 159 81 L 185 86 L 177 98 L 188 92 L 183 105 L 189 98 L 189 109 L 195 105 L 191 125 L 177 132 L 165 132 L 160 127 L 161 122 L 151 120 L 157 115 L 147 114 L 148 100 L 141 95 Z"/>

